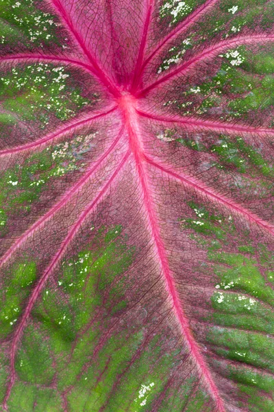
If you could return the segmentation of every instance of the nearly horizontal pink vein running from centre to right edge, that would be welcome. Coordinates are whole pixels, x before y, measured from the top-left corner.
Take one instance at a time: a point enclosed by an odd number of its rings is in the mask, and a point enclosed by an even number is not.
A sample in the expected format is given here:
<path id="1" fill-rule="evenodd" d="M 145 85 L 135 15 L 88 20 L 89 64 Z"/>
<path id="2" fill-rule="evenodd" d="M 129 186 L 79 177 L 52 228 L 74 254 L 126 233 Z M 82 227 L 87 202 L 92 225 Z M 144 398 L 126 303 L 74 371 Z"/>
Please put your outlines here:
<path id="1" fill-rule="evenodd" d="M 169 116 L 157 116 L 151 113 L 137 110 L 138 115 L 146 117 L 147 119 L 158 120 L 159 122 L 174 122 L 184 125 L 190 125 L 192 128 L 205 128 L 209 130 L 219 130 L 233 133 L 255 133 L 258 135 L 274 134 L 274 129 L 271 128 L 256 128 L 245 126 L 243 124 L 229 124 L 224 122 L 210 122 L 210 120 L 195 119 L 192 117 L 169 117 Z"/>

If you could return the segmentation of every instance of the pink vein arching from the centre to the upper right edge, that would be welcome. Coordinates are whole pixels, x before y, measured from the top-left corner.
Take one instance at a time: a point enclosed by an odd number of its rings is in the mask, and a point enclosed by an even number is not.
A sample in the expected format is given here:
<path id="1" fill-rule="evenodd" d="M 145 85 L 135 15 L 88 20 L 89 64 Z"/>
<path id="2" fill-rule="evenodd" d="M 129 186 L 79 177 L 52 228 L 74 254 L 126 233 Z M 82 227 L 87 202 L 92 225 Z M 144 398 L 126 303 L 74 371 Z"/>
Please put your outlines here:
<path id="1" fill-rule="evenodd" d="M 166 74 L 166 76 L 162 76 L 156 82 L 150 84 L 149 86 L 145 87 L 145 89 L 139 91 L 136 97 L 144 97 L 145 95 L 147 95 L 147 93 L 149 93 L 149 91 L 155 89 L 155 87 L 158 87 L 160 84 L 168 80 L 172 80 L 181 71 L 185 72 L 186 69 L 188 69 L 190 66 L 195 65 L 196 63 L 200 62 L 205 58 L 215 56 L 223 49 L 227 49 L 228 47 L 236 47 L 237 45 L 252 44 L 256 42 L 262 43 L 264 41 L 274 41 L 274 36 L 236 36 L 230 40 L 220 41 L 219 43 L 216 43 L 216 45 L 214 45 L 213 47 L 208 47 L 207 49 L 204 49 L 201 53 L 197 54 L 197 56 L 190 58 L 190 60 L 184 62 L 182 65 L 177 67 L 177 69 L 171 70 L 170 73 Z"/>

